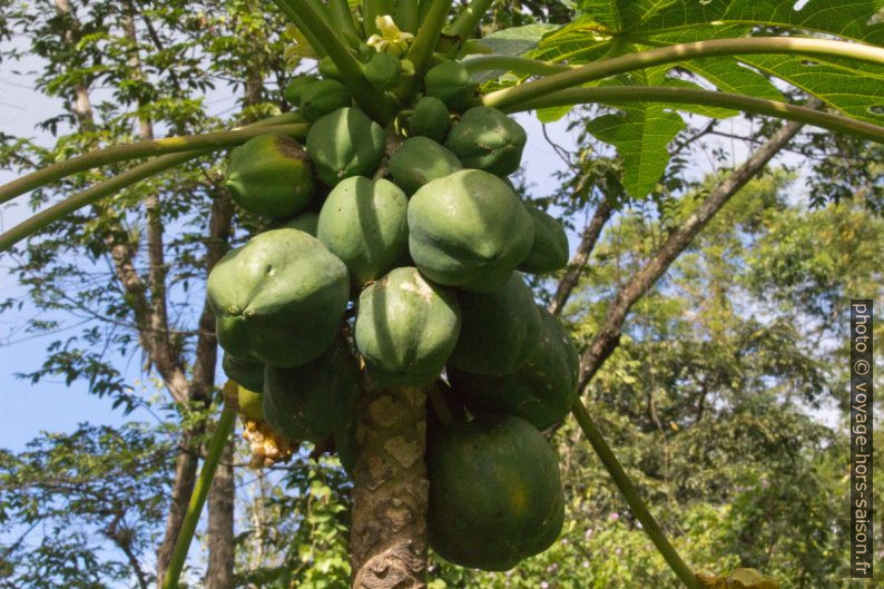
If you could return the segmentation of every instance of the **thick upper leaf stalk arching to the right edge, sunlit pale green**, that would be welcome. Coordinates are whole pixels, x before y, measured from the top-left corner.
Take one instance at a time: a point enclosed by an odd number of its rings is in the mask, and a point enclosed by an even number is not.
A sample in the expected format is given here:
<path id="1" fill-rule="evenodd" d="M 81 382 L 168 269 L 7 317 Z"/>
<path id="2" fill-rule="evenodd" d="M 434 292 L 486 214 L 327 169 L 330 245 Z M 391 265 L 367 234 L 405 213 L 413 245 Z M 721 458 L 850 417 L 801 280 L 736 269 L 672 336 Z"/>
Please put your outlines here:
<path id="1" fill-rule="evenodd" d="M 543 97 L 557 90 L 581 86 L 593 80 L 651 66 L 710 56 L 753 53 L 837 57 L 884 65 L 884 49 L 871 45 L 803 37 L 715 39 L 693 43 L 678 43 L 596 61 L 571 71 L 554 73 L 521 86 L 491 92 L 482 98 L 482 104 L 502 109 L 503 107 L 520 105 L 526 100 Z"/>

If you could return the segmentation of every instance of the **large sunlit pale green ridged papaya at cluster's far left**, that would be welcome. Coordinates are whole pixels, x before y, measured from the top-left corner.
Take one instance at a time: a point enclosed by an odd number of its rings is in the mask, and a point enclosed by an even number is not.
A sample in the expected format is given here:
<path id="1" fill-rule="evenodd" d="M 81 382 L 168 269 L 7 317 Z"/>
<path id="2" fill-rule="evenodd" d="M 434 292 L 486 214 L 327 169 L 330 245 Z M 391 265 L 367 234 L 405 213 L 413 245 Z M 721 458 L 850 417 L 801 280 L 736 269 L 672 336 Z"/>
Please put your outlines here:
<path id="1" fill-rule="evenodd" d="M 299 366 L 334 340 L 350 296 L 343 262 L 297 229 L 261 233 L 218 262 L 206 286 L 222 347 Z"/>

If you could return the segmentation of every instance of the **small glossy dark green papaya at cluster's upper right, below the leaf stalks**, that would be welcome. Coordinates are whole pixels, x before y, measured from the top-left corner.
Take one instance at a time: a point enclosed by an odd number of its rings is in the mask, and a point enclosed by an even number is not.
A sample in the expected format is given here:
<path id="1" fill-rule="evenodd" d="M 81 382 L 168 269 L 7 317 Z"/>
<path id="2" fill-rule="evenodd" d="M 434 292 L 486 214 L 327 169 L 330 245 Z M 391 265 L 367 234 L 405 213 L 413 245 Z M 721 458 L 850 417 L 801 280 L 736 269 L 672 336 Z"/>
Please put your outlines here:
<path id="1" fill-rule="evenodd" d="M 454 125 L 445 147 L 466 168 L 508 176 L 519 169 L 527 140 L 522 126 L 500 110 L 475 107 L 464 112 Z"/>

